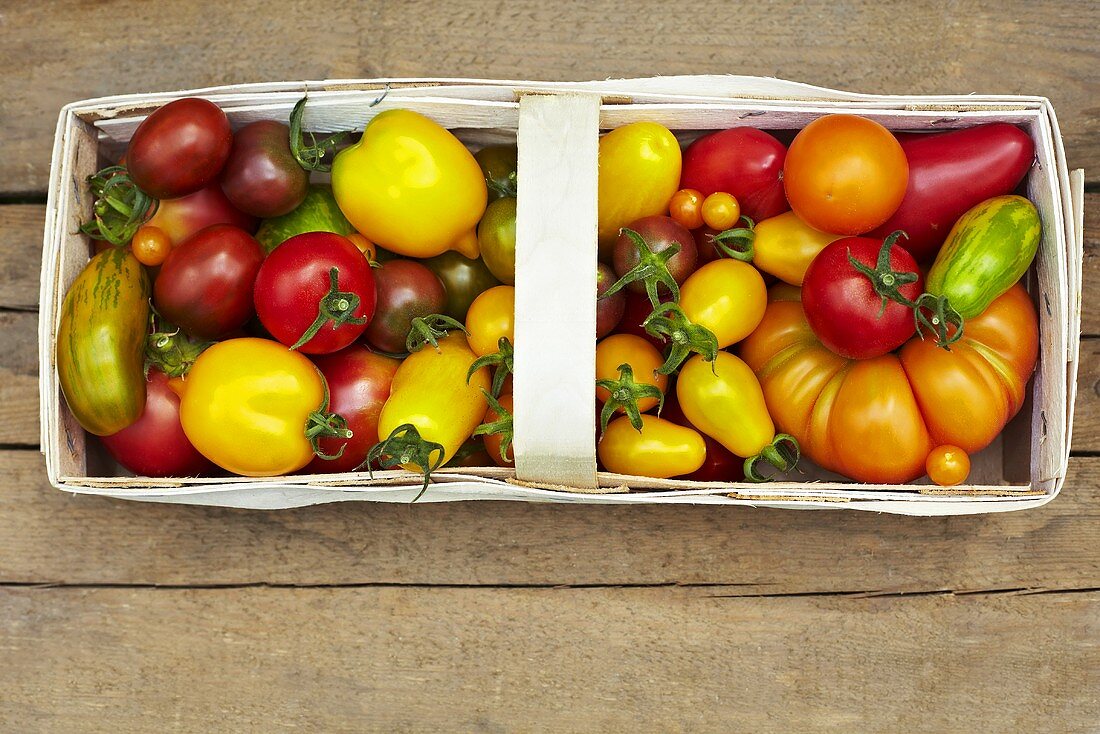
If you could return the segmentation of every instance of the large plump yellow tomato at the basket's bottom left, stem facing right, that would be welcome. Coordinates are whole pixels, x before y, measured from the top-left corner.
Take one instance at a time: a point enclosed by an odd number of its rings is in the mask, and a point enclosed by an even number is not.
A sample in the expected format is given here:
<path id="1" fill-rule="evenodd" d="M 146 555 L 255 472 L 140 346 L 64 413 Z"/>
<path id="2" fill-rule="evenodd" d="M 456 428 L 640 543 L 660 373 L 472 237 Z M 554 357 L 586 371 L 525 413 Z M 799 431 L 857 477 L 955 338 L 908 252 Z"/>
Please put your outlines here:
<path id="1" fill-rule="evenodd" d="M 199 354 L 179 420 L 199 453 L 245 476 L 289 474 L 314 458 L 310 415 L 324 402 L 314 363 L 268 339 L 230 339 Z"/>

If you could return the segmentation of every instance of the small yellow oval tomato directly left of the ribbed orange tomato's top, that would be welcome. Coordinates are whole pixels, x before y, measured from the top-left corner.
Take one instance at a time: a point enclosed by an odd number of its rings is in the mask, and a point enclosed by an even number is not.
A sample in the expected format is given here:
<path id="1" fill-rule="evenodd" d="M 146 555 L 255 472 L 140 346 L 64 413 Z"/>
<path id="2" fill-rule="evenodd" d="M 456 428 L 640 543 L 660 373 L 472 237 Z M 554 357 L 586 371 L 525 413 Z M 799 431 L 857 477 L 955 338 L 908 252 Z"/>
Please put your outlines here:
<path id="1" fill-rule="evenodd" d="M 692 324 L 705 326 L 724 349 L 752 333 L 763 318 L 768 287 L 760 272 L 739 260 L 714 260 L 680 286 L 680 307 Z"/>

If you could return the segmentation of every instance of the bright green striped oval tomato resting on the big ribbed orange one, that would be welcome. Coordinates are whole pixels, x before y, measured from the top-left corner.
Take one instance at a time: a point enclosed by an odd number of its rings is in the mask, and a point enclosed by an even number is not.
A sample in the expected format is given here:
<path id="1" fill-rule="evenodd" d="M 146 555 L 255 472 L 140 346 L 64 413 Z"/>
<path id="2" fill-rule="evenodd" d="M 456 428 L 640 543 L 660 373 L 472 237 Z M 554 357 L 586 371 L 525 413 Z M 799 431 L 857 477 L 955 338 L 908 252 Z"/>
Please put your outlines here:
<path id="1" fill-rule="evenodd" d="M 1041 233 L 1038 211 L 1024 197 L 987 199 L 955 222 L 925 288 L 974 318 L 1027 272 Z"/>

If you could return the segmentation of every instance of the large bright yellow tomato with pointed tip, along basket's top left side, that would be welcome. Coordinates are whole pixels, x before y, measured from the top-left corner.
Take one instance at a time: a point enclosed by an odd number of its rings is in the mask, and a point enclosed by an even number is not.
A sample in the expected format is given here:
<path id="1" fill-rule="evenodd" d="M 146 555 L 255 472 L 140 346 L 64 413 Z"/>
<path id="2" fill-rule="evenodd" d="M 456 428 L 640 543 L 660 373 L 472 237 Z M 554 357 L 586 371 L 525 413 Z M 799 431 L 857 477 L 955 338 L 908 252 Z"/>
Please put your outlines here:
<path id="1" fill-rule="evenodd" d="M 410 110 L 387 110 L 332 162 L 332 194 L 372 242 L 409 258 L 458 250 L 477 256 L 488 194 L 459 139 Z"/>

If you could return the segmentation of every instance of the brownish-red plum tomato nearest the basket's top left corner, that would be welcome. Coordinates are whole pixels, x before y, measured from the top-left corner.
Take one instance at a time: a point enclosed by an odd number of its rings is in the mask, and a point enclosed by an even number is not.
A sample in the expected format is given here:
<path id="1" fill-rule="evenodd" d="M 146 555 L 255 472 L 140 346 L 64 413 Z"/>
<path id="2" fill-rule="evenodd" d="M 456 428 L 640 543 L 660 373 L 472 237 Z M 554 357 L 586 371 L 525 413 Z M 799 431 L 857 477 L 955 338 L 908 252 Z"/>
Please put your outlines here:
<path id="1" fill-rule="evenodd" d="M 216 183 L 232 144 L 220 107 L 197 97 L 177 99 L 138 125 L 127 149 L 127 169 L 150 196 L 175 199 Z"/>

